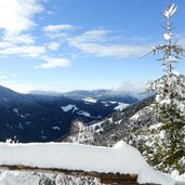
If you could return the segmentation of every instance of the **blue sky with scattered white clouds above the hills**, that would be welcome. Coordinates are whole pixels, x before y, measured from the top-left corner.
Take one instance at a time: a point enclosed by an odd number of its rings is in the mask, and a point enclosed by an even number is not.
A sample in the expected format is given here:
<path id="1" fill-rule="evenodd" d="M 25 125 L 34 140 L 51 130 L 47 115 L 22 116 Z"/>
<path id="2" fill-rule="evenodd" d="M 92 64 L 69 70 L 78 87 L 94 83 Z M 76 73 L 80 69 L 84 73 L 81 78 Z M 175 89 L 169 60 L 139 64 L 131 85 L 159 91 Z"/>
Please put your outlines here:
<path id="1" fill-rule="evenodd" d="M 185 1 L 174 0 L 185 47 Z M 0 0 L 0 84 L 18 92 L 141 90 L 162 75 L 166 0 Z M 185 74 L 182 61 L 176 70 Z"/>

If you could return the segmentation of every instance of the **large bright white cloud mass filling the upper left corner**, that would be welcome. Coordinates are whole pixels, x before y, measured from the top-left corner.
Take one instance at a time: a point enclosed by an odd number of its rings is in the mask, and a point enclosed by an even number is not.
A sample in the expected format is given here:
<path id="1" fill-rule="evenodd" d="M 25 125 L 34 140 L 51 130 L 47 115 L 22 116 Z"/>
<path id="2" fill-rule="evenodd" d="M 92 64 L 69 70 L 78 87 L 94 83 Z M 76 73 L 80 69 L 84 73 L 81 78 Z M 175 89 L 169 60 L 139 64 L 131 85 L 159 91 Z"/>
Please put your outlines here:
<path id="1" fill-rule="evenodd" d="M 0 55 L 39 57 L 47 52 L 44 45 L 35 44 L 28 32 L 36 23 L 34 16 L 43 11 L 41 0 L 0 0 Z"/>

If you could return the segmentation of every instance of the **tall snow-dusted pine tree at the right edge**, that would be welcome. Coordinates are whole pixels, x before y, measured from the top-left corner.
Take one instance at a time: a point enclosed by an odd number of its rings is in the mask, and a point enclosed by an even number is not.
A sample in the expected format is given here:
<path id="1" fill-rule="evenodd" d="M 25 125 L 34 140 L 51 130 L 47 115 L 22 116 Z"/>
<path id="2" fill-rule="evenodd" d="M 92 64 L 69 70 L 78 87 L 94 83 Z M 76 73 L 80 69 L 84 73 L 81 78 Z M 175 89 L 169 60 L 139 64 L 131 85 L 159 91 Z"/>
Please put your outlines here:
<path id="1" fill-rule="evenodd" d="M 147 142 L 148 160 L 164 172 L 185 172 L 185 77 L 174 71 L 175 64 L 183 56 L 184 49 L 173 41 L 172 17 L 177 6 L 172 4 L 164 11 L 167 26 L 163 26 L 166 43 L 158 44 L 150 53 L 160 54 L 164 75 L 148 83 L 148 91 L 156 92 L 153 104 L 160 123 L 150 129 Z"/>

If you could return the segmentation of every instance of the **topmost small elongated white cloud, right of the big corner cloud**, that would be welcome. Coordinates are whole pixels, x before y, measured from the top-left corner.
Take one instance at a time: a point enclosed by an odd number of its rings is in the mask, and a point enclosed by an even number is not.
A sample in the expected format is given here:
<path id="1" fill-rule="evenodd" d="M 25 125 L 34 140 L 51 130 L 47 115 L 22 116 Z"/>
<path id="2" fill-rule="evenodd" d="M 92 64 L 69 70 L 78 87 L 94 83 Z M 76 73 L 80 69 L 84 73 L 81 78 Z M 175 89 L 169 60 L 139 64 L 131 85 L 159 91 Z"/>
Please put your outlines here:
<path id="1" fill-rule="evenodd" d="M 58 32 L 58 31 L 68 31 L 75 30 L 76 27 L 71 25 L 49 25 L 43 27 L 44 32 Z"/>

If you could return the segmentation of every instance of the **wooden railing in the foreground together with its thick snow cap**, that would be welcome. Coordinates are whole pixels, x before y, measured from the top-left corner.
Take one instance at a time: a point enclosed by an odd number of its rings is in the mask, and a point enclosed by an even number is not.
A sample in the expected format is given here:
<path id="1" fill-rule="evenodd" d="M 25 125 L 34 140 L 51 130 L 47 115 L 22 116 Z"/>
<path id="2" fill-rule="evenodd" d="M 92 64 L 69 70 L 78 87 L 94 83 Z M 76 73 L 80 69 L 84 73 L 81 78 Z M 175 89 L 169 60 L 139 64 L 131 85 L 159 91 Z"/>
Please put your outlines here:
<path id="1" fill-rule="evenodd" d="M 171 176 L 151 169 L 135 148 L 123 142 L 115 147 L 0 143 L 0 169 L 92 176 L 115 185 L 175 184 Z"/>

